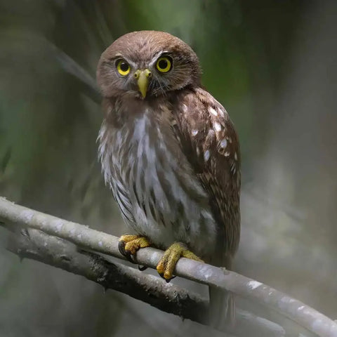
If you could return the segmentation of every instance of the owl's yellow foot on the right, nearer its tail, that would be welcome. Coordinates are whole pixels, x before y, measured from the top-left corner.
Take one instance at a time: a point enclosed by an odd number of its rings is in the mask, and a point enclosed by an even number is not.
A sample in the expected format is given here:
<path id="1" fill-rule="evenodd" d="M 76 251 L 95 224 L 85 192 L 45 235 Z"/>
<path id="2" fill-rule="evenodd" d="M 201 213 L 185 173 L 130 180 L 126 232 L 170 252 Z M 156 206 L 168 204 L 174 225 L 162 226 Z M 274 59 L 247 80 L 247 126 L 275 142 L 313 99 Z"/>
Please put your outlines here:
<path id="1" fill-rule="evenodd" d="M 196 260 L 199 262 L 204 262 L 198 258 L 192 251 L 187 249 L 187 246 L 182 242 L 175 242 L 171 244 L 168 249 L 166 249 L 164 256 L 161 258 L 157 265 L 157 272 L 161 277 L 166 279 L 166 282 L 169 282 L 173 278 L 173 271 L 176 267 L 176 263 L 179 258 L 190 258 L 191 260 Z"/>

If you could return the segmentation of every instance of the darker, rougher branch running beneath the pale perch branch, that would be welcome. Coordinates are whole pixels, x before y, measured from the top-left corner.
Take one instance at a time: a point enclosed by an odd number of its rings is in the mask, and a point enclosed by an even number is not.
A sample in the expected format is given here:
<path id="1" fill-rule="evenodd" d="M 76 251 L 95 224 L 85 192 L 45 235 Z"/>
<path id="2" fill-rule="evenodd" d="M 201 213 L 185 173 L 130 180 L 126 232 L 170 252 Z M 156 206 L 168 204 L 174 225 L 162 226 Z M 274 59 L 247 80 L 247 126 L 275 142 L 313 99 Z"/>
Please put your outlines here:
<path id="1" fill-rule="evenodd" d="M 8 250 L 21 259 L 31 258 L 59 267 L 84 276 L 105 289 L 126 293 L 161 311 L 201 324 L 209 323 L 208 300 L 192 291 L 186 291 L 174 284 L 166 284 L 159 277 L 108 261 L 98 254 L 80 250 L 74 244 L 40 230 L 20 229 L 13 225 L 4 227 L 12 231 Z M 246 336 L 247 333 L 261 337 L 284 336 L 281 326 L 243 310 L 237 312 L 237 326 L 228 327 L 227 332 L 235 333 L 236 336 Z"/>

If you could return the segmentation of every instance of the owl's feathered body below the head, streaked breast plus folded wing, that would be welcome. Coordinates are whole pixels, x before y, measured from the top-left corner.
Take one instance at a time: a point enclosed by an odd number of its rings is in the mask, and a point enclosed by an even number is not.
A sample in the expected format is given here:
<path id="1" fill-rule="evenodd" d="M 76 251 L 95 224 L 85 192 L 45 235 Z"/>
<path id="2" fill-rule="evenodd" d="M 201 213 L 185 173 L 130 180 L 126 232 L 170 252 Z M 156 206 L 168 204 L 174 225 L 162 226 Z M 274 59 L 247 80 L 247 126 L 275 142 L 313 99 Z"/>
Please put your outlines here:
<path id="1" fill-rule="evenodd" d="M 105 180 L 139 234 L 163 248 L 186 242 L 207 261 L 230 267 L 240 230 L 237 134 L 201 88 L 167 98 L 105 101 Z"/>

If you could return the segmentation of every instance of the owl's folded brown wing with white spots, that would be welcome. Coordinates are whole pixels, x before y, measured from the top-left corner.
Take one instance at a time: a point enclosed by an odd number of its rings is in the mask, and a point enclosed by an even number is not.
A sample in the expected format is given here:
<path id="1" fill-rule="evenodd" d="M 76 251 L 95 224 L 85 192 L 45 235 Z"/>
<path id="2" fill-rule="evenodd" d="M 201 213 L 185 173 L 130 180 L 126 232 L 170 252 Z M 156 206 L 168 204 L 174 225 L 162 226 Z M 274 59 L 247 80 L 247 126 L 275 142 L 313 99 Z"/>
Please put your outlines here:
<path id="1" fill-rule="evenodd" d="M 225 108 L 201 88 L 185 91 L 173 107 L 182 150 L 209 194 L 218 224 L 216 248 L 225 255 L 212 262 L 230 267 L 240 232 L 237 133 Z"/>

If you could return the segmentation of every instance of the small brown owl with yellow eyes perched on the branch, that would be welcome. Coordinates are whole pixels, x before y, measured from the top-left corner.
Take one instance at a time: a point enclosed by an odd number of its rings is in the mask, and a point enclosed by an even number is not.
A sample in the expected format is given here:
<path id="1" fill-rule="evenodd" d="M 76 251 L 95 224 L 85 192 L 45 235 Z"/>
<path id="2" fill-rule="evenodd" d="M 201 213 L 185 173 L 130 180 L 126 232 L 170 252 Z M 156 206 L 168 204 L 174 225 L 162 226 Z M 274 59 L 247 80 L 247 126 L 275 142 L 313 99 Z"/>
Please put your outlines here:
<path id="1" fill-rule="evenodd" d="M 102 54 L 105 118 L 99 157 L 126 224 L 121 253 L 164 249 L 230 269 L 240 235 L 239 140 L 225 108 L 201 87 L 192 48 L 164 32 L 126 34 Z M 212 298 L 211 298 L 212 302 Z"/>

